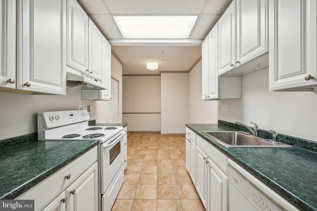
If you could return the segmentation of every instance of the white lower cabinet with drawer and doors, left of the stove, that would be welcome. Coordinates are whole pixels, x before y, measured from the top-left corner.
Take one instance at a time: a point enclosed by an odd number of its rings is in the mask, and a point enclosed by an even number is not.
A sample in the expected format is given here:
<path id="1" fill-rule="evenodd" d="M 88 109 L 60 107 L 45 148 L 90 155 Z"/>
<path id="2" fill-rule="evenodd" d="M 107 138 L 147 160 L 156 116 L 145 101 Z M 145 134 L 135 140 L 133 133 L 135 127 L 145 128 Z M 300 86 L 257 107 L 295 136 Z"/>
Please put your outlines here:
<path id="1" fill-rule="evenodd" d="M 98 147 L 16 198 L 34 200 L 34 210 L 99 211 Z"/>

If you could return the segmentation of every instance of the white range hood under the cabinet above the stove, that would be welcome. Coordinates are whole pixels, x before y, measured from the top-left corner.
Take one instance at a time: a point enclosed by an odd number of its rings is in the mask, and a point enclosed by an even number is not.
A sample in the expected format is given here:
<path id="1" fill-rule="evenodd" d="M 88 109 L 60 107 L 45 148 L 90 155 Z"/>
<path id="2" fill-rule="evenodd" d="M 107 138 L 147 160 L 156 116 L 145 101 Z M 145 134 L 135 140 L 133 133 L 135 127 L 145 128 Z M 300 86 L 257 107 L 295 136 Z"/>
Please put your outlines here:
<path id="1" fill-rule="evenodd" d="M 81 89 L 86 90 L 108 89 L 100 80 L 71 68 L 67 69 L 66 80 L 66 85 L 71 87 L 81 85 Z"/>

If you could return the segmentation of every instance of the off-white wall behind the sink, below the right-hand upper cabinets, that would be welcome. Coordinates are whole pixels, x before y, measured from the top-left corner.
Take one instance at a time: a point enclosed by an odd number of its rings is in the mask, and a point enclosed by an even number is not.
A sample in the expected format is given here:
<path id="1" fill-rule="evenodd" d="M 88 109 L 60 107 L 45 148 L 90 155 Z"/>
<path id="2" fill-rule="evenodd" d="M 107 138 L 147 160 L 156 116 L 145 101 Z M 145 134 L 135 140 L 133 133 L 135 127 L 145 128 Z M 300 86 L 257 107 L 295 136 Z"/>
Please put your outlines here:
<path id="1" fill-rule="evenodd" d="M 230 111 L 225 112 L 229 103 Z M 317 92 L 268 91 L 268 68 L 242 77 L 242 98 L 221 100 L 218 119 L 317 141 Z"/>

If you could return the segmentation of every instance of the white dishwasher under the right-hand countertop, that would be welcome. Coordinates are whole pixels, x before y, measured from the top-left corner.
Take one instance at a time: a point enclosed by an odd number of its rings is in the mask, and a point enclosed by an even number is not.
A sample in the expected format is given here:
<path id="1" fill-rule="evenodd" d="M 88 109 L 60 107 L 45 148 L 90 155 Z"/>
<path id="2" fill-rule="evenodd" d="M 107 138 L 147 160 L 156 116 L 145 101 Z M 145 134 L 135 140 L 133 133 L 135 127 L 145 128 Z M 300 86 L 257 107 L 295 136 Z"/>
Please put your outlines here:
<path id="1" fill-rule="evenodd" d="M 299 211 L 247 170 L 228 159 L 229 211 Z"/>

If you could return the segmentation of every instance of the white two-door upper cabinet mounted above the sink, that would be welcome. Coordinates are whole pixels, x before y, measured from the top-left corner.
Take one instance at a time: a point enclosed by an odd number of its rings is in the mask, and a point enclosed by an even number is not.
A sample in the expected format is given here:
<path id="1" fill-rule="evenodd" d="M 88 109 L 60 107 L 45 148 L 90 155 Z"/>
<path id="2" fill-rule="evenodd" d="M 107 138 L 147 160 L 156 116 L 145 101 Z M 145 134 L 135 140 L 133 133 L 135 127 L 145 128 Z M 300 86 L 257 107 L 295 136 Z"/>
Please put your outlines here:
<path id="1" fill-rule="evenodd" d="M 233 0 L 218 21 L 218 74 L 237 76 L 267 67 L 267 52 L 267 0 Z"/>

